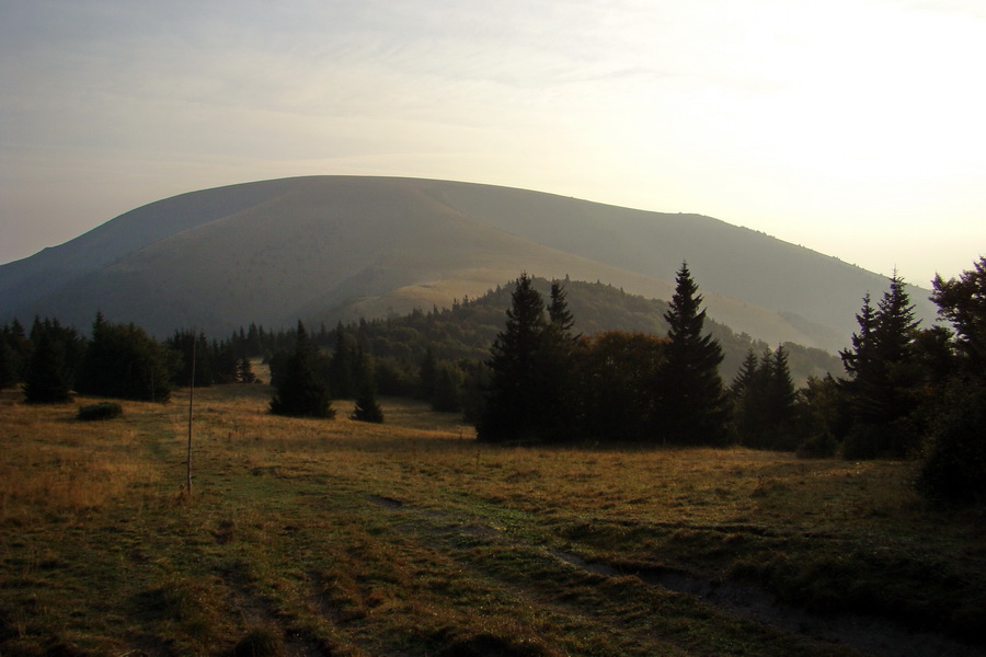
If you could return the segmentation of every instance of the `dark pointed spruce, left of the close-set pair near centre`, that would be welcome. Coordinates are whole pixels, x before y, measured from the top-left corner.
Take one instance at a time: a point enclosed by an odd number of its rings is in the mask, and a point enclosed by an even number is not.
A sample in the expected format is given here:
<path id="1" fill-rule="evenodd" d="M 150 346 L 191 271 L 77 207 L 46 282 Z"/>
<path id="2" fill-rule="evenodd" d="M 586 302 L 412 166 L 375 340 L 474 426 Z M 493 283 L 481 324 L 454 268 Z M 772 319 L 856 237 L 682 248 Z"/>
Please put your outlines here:
<path id="1" fill-rule="evenodd" d="M 491 385 L 477 437 L 485 442 L 541 439 L 544 411 L 540 353 L 544 301 L 524 273 L 511 296 L 507 321 L 491 348 Z"/>

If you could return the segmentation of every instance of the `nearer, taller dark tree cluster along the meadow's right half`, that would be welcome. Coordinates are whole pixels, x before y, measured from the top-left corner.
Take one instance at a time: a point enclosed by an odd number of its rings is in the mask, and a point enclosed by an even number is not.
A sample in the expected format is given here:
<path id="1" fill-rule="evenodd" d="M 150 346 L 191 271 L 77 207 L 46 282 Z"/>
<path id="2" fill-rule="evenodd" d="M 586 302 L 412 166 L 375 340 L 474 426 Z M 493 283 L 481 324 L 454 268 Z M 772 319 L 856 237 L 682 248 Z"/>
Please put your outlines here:
<path id="1" fill-rule="evenodd" d="M 725 387 L 687 264 L 664 336 L 573 336 L 560 284 L 546 304 L 521 275 L 490 353 L 480 440 L 731 445 L 804 457 L 914 459 L 939 502 L 986 497 L 986 258 L 932 281 L 943 323 L 921 327 L 895 273 L 839 356 L 845 376 L 795 389 L 783 346 L 750 349 Z"/>

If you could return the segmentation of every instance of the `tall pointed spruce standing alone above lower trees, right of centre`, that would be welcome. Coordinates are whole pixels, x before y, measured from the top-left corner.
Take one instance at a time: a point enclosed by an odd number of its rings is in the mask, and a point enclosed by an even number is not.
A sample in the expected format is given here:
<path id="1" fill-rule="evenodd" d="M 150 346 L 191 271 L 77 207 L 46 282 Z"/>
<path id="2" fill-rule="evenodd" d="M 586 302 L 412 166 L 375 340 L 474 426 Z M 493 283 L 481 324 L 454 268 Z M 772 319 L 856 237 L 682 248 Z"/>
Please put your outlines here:
<path id="1" fill-rule="evenodd" d="M 675 293 L 664 319 L 669 328 L 666 359 L 657 372 L 654 430 L 664 441 L 719 445 L 729 416 L 719 376 L 719 342 L 702 333 L 706 310 L 688 264 L 678 269 Z"/>

